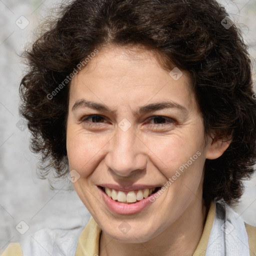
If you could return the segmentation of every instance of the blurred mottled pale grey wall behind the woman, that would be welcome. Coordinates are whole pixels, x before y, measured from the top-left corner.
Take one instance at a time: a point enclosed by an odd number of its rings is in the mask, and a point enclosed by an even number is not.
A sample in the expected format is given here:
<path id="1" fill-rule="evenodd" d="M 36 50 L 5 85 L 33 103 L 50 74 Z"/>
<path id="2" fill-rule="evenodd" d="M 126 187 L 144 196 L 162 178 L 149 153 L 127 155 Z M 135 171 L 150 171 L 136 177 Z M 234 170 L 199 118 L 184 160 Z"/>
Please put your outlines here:
<path id="1" fill-rule="evenodd" d="M 61 189 L 55 191 L 49 189 L 47 180 L 38 179 L 37 158 L 28 148 L 29 132 L 22 126 L 17 111 L 18 86 L 24 74 L 18 55 L 25 43 L 32 40 L 38 20 L 43 20 L 45 11 L 56 2 L 0 0 L 0 252 L 9 242 L 40 228 L 85 225 L 90 216 L 76 193 L 67 190 L 68 179 L 58 184 Z M 239 22 L 255 66 L 256 0 L 220 2 L 231 18 Z M 253 77 L 255 81 L 255 69 Z M 256 176 L 246 181 L 245 186 L 235 210 L 256 226 Z"/>

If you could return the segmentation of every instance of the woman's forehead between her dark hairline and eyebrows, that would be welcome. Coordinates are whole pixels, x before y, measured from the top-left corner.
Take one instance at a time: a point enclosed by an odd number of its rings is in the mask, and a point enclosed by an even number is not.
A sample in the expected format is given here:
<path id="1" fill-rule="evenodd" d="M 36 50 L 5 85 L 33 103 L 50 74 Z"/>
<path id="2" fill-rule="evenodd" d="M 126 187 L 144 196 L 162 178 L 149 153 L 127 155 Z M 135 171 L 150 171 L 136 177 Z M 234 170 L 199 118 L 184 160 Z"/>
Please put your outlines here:
<path id="1" fill-rule="evenodd" d="M 177 67 L 173 71 L 178 72 L 176 76 L 169 72 L 153 51 L 104 47 L 72 78 L 69 103 L 93 99 L 116 110 L 120 102 L 132 108 L 172 100 L 184 107 L 197 107 L 188 73 Z"/>

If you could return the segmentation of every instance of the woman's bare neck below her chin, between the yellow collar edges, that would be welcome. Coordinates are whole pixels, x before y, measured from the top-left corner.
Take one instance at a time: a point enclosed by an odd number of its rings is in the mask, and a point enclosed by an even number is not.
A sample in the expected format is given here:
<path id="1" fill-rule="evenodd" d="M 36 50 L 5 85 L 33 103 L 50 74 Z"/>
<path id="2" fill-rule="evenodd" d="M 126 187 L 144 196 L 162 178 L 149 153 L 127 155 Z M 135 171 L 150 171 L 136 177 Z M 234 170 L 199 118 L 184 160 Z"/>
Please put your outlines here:
<path id="1" fill-rule="evenodd" d="M 124 243 L 101 232 L 100 256 L 193 255 L 207 214 L 205 204 L 194 197 L 180 217 L 162 233 L 143 243 Z M 185 244 L 185 246 L 184 246 Z"/>

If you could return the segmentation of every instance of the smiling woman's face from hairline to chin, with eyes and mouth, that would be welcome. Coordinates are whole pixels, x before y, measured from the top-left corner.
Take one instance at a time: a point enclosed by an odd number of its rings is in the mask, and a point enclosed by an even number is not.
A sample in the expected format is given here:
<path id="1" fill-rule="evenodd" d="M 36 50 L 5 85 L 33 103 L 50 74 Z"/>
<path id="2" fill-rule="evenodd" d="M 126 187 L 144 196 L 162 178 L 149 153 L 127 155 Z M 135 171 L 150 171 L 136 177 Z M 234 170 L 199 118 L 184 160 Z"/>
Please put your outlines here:
<path id="1" fill-rule="evenodd" d="M 202 205 L 204 161 L 216 152 L 204 140 L 187 73 L 180 75 L 149 51 L 107 47 L 71 81 L 73 185 L 101 229 L 119 241 L 147 241 Z"/>

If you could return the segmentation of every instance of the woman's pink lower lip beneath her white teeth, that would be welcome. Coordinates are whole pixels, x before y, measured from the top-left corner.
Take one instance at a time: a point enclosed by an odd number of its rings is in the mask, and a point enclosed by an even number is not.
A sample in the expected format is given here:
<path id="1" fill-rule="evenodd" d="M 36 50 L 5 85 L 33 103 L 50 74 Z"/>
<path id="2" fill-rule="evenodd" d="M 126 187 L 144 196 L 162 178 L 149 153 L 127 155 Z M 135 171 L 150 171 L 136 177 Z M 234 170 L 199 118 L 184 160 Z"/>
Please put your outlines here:
<path id="1" fill-rule="evenodd" d="M 107 205 L 107 207 L 117 214 L 134 214 L 137 212 L 140 212 L 143 210 L 146 206 L 148 206 L 150 203 L 153 202 L 153 194 L 150 196 L 143 198 L 140 201 L 133 202 L 133 203 L 122 203 L 122 202 L 116 202 L 112 198 L 110 198 L 101 188 L 99 188 L 101 191 L 102 197 Z M 150 197 L 152 201 L 150 201 Z"/>

